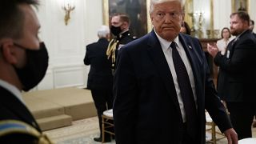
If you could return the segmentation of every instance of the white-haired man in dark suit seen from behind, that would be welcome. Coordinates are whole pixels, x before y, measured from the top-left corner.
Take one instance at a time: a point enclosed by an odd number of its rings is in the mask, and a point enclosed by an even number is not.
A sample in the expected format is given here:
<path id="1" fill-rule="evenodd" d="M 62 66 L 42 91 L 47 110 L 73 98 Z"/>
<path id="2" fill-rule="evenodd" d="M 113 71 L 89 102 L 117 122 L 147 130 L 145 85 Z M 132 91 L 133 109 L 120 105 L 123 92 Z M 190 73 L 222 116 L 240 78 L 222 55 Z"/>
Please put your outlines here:
<path id="1" fill-rule="evenodd" d="M 100 137 L 94 138 L 96 142 L 102 142 L 102 114 L 113 106 L 113 76 L 111 61 L 106 58 L 106 49 L 109 44 L 110 29 L 101 26 L 98 30 L 98 42 L 86 46 L 84 64 L 90 65 L 87 88 L 90 89 L 94 98 L 94 104 L 98 113 Z M 110 135 L 106 134 L 105 142 L 110 142 Z"/>

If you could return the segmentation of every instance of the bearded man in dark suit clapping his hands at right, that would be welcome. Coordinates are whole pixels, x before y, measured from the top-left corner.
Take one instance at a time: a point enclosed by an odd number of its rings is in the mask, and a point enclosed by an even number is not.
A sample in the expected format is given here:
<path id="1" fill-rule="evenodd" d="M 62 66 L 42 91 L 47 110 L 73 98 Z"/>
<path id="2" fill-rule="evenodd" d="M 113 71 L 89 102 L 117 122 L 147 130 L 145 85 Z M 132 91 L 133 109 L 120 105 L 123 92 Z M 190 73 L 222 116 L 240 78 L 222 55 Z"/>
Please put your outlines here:
<path id="1" fill-rule="evenodd" d="M 219 66 L 218 93 L 226 102 L 230 120 L 238 139 L 250 138 L 256 97 L 256 38 L 249 30 L 250 16 L 246 12 L 230 15 L 230 32 L 236 38 L 222 55 L 216 47 L 208 46 L 214 63 Z"/>

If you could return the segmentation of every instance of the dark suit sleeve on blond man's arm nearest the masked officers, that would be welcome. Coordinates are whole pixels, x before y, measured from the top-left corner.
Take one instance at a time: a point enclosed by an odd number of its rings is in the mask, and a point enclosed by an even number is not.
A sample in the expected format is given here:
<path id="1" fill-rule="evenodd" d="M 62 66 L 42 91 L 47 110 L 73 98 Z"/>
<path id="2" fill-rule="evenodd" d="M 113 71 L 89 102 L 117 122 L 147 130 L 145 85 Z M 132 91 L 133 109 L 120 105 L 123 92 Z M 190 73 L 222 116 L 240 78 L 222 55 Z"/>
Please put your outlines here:
<path id="1" fill-rule="evenodd" d="M 123 47 L 114 74 L 114 130 L 117 143 L 134 143 L 137 88 L 130 54 Z"/>

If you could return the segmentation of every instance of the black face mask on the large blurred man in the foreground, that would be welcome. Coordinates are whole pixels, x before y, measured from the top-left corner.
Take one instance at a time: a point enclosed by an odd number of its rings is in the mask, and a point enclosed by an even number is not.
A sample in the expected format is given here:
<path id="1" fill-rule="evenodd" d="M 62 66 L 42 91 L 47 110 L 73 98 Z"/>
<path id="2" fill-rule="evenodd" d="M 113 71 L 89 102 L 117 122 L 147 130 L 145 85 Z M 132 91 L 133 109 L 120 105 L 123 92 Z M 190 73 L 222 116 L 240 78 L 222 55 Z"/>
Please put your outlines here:
<path id="1" fill-rule="evenodd" d="M 18 44 L 14 45 L 26 50 L 26 66 L 22 68 L 14 66 L 14 68 L 22 82 L 22 90 L 28 91 L 37 86 L 46 74 L 49 60 L 46 46 L 41 42 L 39 50 L 28 50 Z"/>

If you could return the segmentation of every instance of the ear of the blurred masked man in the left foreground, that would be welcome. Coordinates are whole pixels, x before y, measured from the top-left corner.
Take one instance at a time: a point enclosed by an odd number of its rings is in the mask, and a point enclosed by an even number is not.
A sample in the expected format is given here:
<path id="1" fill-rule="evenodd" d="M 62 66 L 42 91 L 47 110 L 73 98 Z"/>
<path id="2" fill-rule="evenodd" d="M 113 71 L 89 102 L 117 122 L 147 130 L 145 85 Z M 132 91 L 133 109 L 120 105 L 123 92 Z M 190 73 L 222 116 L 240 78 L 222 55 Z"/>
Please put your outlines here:
<path id="1" fill-rule="evenodd" d="M 6 62 L 10 64 L 17 63 L 17 58 L 15 57 L 16 52 L 14 50 L 14 42 L 10 38 L 5 38 L 2 40 L 2 57 Z"/>

